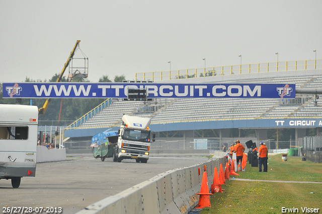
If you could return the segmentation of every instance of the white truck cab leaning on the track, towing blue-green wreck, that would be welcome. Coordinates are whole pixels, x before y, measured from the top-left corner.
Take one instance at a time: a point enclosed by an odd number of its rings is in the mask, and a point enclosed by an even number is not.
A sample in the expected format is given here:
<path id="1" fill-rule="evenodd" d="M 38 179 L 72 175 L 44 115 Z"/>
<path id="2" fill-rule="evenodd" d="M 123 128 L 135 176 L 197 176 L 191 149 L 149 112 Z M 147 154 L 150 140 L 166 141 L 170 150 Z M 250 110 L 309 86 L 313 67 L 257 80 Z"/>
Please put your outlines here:
<path id="1" fill-rule="evenodd" d="M 147 163 L 151 141 L 155 141 L 155 133 L 148 127 L 151 118 L 123 115 L 122 121 L 117 145 L 113 148 L 113 161 L 135 159 L 137 163 Z"/>

